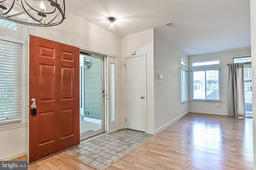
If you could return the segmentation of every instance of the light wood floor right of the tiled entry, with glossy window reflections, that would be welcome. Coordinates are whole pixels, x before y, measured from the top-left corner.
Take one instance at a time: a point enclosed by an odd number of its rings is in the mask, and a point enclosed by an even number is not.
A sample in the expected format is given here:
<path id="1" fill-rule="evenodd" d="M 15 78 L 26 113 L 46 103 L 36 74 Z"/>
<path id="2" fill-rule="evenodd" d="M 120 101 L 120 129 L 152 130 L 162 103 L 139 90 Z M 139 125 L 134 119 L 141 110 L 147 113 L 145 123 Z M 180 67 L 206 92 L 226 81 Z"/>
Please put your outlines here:
<path id="1" fill-rule="evenodd" d="M 189 113 L 108 170 L 253 170 L 252 119 Z"/>

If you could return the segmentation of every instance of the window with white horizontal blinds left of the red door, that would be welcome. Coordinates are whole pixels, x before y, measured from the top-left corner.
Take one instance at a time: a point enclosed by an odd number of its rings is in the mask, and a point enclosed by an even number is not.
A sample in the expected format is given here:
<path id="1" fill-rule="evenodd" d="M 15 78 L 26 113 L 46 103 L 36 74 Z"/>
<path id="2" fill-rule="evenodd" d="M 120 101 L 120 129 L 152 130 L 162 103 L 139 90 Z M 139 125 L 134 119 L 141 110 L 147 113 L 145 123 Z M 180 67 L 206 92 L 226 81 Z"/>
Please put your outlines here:
<path id="1" fill-rule="evenodd" d="M 22 120 L 22 44 L 0 40 L 0 124 Z"/>

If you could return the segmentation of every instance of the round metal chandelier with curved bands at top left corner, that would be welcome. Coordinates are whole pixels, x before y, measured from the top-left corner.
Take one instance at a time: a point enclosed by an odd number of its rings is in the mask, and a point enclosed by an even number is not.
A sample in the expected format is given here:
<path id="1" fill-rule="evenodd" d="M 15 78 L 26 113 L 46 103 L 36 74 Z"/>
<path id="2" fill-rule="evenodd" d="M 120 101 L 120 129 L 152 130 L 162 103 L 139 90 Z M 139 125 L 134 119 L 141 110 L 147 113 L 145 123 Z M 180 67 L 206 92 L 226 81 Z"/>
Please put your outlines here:
<path id="1" fill-rule="evenodd" d="M 65 0 L 0 0 L 0 18 L 33 26 L 58 25 L 65 19 Z"/>

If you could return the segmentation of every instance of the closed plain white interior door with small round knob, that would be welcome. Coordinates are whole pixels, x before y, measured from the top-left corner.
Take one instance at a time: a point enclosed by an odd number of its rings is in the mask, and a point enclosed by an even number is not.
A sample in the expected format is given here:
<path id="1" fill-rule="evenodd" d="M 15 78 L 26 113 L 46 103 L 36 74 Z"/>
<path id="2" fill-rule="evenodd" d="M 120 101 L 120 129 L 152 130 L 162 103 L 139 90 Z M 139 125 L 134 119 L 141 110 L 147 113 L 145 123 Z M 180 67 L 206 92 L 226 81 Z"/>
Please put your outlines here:
<path id="1" fill-rule="evenodd" d="M 126 58 L 126 128 L 145 131 L 146 57 Z"/>

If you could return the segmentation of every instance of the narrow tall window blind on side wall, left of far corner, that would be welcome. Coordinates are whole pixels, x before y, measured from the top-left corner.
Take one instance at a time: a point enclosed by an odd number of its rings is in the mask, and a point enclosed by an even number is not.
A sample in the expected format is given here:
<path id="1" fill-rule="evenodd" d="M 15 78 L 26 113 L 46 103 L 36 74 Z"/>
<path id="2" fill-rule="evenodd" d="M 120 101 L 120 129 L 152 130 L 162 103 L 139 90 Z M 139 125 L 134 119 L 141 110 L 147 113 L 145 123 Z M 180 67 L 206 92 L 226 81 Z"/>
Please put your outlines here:
<path id="1" fill-rule="evenodd" d="M 188 70 L 181 67 L 181 102 L 188 102 Z"/>

